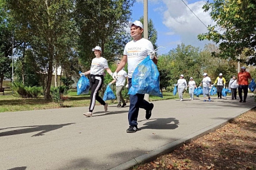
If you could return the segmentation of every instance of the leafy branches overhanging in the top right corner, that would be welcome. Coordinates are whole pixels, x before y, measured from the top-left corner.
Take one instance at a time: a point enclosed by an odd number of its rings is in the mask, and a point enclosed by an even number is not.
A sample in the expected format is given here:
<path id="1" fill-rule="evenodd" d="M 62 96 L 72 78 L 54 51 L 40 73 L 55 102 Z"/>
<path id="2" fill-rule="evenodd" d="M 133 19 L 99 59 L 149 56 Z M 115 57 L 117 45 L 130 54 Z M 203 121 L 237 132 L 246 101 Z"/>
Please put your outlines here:
<path id="1" fill-rule="evenodd" d="M 255 0 L 214 0 L 203 6 L 205 12 L 215 21 L 208 32 L 198 35 L 200 40 L 213 40 L 219 44 L 223 59 L 236 59 L 243 52 L 249 59 L 247 64 L 256 63 L 256 1 Z"/>

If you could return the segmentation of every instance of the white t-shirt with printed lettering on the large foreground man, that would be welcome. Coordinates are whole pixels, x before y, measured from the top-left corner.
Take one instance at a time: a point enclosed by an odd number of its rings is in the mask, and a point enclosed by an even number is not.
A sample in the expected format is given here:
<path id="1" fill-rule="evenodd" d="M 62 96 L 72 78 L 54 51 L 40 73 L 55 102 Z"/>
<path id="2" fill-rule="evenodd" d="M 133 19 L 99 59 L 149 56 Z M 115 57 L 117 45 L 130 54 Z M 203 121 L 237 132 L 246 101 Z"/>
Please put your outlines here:
<path id="1" fill-rule="evenodd" d="M 147 39 L 131 40 L 124 48 L 124 55 L 127 55 L 128 77 L 132 77 L 132 73 L 142 60 L 147 57 L 149 52 L 153 52 L 153 44 Z"/>

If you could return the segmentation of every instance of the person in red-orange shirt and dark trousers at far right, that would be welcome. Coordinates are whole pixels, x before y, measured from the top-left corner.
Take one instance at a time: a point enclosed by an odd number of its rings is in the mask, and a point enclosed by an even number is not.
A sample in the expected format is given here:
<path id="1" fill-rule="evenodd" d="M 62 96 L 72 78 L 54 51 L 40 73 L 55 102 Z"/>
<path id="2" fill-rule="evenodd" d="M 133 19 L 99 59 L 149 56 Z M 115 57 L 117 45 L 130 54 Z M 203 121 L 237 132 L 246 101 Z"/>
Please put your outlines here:
<path id="1" fill-rule="evenodd" d="M 241 67 L 241 71 L 237 75 L 237 82 L 239 83 L 239 102 L 246 102 L 247 93 L 248 93 L 248 80 L 252 80 L 249 72 L 245 71 L 245 67 Z M 244 90 L 244 100 L 242 98 L 242 90 Z"/>

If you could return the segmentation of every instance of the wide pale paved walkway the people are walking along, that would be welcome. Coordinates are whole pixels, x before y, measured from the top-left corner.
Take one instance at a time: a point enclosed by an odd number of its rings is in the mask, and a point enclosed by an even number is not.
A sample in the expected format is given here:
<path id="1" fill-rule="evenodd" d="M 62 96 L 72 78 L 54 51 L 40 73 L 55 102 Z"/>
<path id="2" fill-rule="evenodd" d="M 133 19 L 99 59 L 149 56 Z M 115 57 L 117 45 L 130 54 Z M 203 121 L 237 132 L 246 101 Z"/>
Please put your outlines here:
<path id="1" fill-rule="evenodd" d="M 136 133 L 126 133 L 129 107 L 116 105 L 108 113 L 96 106 L 91 118 L 82 115 L 87 107 L 0 113 L 0 169 L 127 169 L 254 108 L 251 96 L 247 103 L 230 97 L 152 102 L 150 120 L 140 110 Z"/>

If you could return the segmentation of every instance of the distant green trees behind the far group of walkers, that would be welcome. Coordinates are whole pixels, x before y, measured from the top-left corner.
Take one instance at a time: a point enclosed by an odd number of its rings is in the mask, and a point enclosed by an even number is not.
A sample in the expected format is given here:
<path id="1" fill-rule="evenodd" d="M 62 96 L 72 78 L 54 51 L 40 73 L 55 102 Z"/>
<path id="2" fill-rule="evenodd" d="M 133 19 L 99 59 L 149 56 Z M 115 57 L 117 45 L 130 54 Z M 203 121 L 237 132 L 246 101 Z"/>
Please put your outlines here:
<path id="1" fill-rule="evenodd" d="M 192 45 L 180 44 L 168 54 L 160 55 L 157 64 L 160 87 L 173 86 L 180 74 L 183 74 L 187 81 L 193 77 L 197 85 L 202 81 L 204 72 L 208 73 L 212 81 L 215 81 L 220 72 L 229 80 L 229 77 L 237 72 L 237 63 L 231 59 L 220 59 L 211 55 L 212 52 L 218 51 L 219 49 L 212 44 L 205 45 L 202 51 Z"/>

